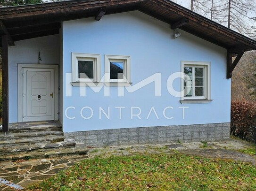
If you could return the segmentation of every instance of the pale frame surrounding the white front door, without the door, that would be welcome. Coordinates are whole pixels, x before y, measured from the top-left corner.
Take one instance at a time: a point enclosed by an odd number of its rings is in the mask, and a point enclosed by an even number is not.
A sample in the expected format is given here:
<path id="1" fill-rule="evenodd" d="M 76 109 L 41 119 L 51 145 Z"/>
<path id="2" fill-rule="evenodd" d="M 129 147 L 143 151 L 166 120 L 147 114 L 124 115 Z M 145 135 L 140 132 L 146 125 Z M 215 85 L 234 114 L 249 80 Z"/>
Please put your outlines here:
<path id="1" fill-rule="evenodd" d="M 54 69 L 54 120 L 58 120 L 58 65 L 18 63 L 18 122 L 24 122 L 23 69 Z"/>

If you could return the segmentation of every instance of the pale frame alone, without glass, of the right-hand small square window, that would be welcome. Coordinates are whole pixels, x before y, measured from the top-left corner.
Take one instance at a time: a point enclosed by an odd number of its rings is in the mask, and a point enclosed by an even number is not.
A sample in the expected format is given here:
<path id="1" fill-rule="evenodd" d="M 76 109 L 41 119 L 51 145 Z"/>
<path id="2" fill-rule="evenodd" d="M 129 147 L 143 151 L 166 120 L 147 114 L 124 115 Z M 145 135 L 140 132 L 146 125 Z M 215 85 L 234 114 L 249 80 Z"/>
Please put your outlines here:
<path id="1" fill-rule="evenodd" d="M 110 62 L 124 62 L 124 79 L 110 79 Z M 127 84 L 131 83 L 131 57 L 105 55 L 105 82 L 111 84 Z M 107 84 L 106 84 L 107 85 Z"/>

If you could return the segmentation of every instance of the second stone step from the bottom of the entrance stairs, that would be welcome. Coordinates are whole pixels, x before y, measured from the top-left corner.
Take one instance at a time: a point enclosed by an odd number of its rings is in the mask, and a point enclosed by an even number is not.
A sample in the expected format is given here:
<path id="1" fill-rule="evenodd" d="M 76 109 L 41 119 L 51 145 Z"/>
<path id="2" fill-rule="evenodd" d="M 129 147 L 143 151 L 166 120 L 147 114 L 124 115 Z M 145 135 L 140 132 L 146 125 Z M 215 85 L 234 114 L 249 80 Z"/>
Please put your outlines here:
<path id="1" fill-rule="evenodd" d="M 16 146 L 16 147 L 6 147 L 0 148 L 0 156 L 6 155 L 10 153 L 32 153 L 32 152 L 45 152 L 49 150 L 55 151 L 58 148 L 69 148 L 75 146 L 74 139 L 67 139 L 65 141 L 57 142 L 57 143 L 44 143 L 44 144 L 34 144 L 34 145 L 26 145 L 26 146 Z"/>

